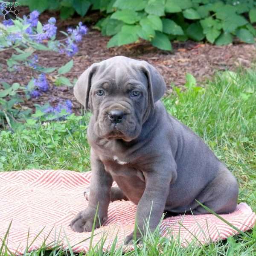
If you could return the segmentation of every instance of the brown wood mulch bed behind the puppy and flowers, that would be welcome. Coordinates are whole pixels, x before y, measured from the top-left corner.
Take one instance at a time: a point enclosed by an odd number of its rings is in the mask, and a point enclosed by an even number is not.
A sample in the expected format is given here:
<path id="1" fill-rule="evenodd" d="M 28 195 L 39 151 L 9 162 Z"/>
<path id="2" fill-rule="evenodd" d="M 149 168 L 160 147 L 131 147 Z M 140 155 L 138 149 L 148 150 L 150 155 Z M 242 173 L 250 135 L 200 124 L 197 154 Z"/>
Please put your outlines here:
<path id="1" fill-rule="evenodd" d="M 23 13 L 28 10 L 23 9 Z M 40 16 L 42 23 L 52 15 L 46 12 Z M 89 32 L 84 36 L 79 44 L 79 52 L 73 56 L 74 66 L 72 71 L 65 74 L 70 81 L 78 78 L 81 73 L 94 62 L 99 62 L 107 58 L 124 55 L 130 58 L 137 58 L 148 61 L 157 67 L 163 75 L 167 84 L 167 94 L 172 92 L 172 86 L 182 86 L 185 82 L 185 74 L 191 73 L 198 81 L 198 84 L 204 85 L 204 81 L 212 76 L 215 70 L 232 70 L 239 65 L 250 67 L 251 62 L 256 58 L 255 45 L 252 44 L 230 44 L 227 46 L 215 46 L 192 41 L 173 42 L 173 51 L 163 51 L 151 46 L 148 42 L 142 41 L 138 44 L 131 44 L 122 47 L 107 49 L 106 45 L 109 38 L 92 28 L 92 24 L 99 15 L 96 13 L 84 18 L 84 22 L 89 26 Z M 57 21 L 57 26 L 61 30 L 66 30 L 67 26 L 73 26 L 79 22 L 80 18 L 73 18 L 66 21 Z M 89 24 L 88 24 L 89 23 Z M 9 58 L 12 52 L 0 52 L 1 58 Z M 57 52 L 39 52 L 39 63 L 45 67 L 61 67 L 67 63 L 70 58 Z M 6 81 L 10 84 L 19 82 L 25 86 L 31 79 L 31 76 L 37 76 L 29 68 L 22 67 L 20 71 L 9 73 L 6 71 L 6 65 L 2 64 L 0 73 L 0 82 Z M 38 99 L 25 101 L 23 105 L 30 108 L 34 104 L 43 105 L 46 102 L 55 104 L 59 99 L 71 99 L 73 101 L 74 111 L 77 112 L 81 106 L 73 96 L 73 88 L 61 86 L 56 87 L 53 84 L 54 78 L 47 75 L 50 82 L 50 90 L 43 93 Z M 0 85 L 1 88 L 1 85 Z"/>

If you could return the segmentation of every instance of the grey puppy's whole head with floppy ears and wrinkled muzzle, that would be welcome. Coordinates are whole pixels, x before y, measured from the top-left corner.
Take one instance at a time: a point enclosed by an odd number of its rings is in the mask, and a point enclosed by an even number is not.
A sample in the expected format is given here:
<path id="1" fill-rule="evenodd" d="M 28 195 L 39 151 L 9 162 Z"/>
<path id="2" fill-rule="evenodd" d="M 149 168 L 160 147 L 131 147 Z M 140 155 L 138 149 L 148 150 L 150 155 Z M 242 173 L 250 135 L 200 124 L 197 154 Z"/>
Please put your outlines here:
<path id="1" fill-rule="evenodd" d="M 116 56 L 85 70 L 74 94 L 93 112 L 97 136 L 131 141 L 165 90 L 163 77 L 148 62 Z"/>

